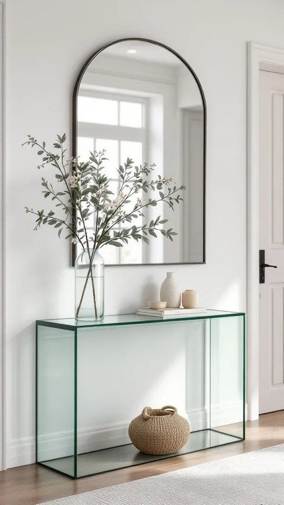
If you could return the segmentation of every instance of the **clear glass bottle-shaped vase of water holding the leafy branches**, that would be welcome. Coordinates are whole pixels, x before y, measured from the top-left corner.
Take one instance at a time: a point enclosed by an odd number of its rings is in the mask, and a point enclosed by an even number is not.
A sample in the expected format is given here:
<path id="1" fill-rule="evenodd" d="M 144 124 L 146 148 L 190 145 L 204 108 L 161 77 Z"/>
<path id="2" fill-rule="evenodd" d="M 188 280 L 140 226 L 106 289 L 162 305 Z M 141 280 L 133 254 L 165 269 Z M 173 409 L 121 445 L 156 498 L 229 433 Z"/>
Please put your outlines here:
<path id="1" fill-rule="evenodd" d="M 75 264 L 75 318 L 104 319 L 104 260 L 99 252 L 82 249 Z"/>

